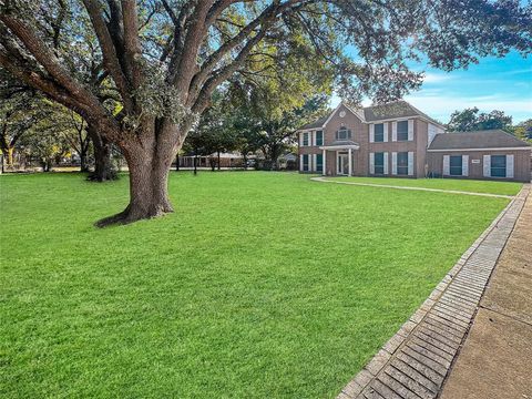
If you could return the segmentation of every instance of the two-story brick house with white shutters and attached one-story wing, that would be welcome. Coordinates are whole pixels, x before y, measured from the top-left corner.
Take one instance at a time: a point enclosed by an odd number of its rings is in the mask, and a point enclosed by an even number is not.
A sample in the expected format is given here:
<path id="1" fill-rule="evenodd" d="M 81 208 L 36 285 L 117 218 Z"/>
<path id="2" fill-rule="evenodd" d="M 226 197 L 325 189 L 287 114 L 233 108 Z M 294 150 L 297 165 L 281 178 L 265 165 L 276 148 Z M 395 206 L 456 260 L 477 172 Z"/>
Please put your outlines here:
<path id="1" fill-rule="evenodd" d="M 406 101 L 360 110 L 341 103 L 298 134 L 304 173 L 530 181 L 529 144 L 502 131 L 447 133 Z"/>

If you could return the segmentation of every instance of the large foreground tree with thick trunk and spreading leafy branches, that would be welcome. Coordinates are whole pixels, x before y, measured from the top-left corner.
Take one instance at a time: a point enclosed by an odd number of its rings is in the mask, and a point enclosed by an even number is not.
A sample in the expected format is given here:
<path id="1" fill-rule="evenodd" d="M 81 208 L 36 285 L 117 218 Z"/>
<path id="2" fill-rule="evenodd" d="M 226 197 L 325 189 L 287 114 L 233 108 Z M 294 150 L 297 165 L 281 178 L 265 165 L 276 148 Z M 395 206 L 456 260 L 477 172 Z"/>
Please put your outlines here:
<path id="1" fill-rule="evenodd" d="M 213 91 L 247 74 L 250 60 L 282 75 L 287 58 L 299 58 L 301 72 L 319 59 L 337 71 L 340 95 L 380 102 L 419 86 L 422 75 L 406 62 L 420 53 L 452 70 L 531 51 L 531 7 L 516 0 L 0 0 L 0 65 L 124 154 L 130 204 L 100 225 L 172 212 L 177 150 Z"/>

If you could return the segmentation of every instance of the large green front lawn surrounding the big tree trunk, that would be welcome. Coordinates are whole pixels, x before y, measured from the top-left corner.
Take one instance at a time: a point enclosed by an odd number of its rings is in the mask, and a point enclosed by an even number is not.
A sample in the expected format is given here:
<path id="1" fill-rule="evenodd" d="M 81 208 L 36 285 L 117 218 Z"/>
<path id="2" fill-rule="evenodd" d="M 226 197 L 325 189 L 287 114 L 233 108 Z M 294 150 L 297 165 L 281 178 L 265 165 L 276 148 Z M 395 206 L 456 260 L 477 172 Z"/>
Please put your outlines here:
<path id="1" fill-rule="evenodd" d="M 126 177 L 0 176 L 0 397 L 334 398 L 508 204 L 254 172 L 170 191 L 174 214 L 96 229 Z"/>

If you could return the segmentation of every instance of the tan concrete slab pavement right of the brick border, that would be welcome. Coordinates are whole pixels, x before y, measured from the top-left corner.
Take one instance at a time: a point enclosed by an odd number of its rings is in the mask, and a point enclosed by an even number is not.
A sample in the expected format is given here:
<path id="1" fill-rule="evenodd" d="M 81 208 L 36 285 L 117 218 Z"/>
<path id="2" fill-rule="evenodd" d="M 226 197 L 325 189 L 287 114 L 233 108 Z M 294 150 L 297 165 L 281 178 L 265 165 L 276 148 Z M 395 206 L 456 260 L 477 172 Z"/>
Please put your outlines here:
<path id="1" fill-rule="evenodd" d="M 532 195 L 499 258 L 441 399 L 532 399 Z"/>

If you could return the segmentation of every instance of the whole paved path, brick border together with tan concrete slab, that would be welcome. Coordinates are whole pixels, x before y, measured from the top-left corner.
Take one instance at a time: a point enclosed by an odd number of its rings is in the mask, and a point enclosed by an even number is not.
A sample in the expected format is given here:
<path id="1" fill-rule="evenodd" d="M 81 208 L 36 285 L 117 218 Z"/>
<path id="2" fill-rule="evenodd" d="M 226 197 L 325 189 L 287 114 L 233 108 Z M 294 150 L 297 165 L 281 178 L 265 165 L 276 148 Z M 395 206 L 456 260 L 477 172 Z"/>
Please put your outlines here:
<path id="1" fill-rule="evenodd" d="M 525 184 L 338 399 L 532 399 L 530 192 Z"/>

